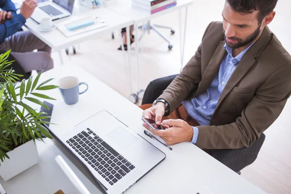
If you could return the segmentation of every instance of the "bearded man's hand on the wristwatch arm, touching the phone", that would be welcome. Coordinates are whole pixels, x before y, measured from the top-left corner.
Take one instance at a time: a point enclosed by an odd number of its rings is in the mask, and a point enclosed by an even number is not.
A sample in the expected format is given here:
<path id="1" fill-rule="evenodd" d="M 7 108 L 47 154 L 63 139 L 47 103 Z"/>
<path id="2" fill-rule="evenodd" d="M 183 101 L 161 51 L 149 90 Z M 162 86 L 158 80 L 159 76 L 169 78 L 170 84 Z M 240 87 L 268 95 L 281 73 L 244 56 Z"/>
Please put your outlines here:
<path id="1" fill-rule="evenodd" d="M 165 113 L 165 105 L 162 102 L 158 102 L 154 106 L 146 109 L 143 112 L 143 117 L 148 119 L 155 119 L 157 125 L 161 125 L 162 116 Z"/>

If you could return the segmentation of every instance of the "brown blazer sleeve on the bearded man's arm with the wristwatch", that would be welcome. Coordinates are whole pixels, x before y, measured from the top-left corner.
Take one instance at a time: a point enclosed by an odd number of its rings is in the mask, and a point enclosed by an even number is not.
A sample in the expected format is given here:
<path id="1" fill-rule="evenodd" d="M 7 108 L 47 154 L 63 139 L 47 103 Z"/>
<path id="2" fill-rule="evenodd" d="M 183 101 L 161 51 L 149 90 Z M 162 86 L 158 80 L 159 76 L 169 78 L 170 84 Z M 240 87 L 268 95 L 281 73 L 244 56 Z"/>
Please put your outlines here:
<path id="1" fill-rule="evenodd" d="M 207 33 L 211 23 L 204 32 Z M 202 40 L 203 40 L 202 38 Z M 193 91 L 201 81 L 201 44 L 195 55 L 185 65 L 182 72 L 171 82 L 158 98 L 166 100 L 170 105 L 170 113 Z"/>

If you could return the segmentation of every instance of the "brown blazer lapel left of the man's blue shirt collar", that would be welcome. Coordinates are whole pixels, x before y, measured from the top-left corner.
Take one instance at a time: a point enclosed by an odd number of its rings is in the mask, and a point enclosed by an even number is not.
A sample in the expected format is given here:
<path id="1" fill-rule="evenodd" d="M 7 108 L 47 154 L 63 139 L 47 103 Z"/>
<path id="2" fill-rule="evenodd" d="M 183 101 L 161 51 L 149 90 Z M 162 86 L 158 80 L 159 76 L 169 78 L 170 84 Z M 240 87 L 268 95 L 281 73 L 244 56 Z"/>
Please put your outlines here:
<path id="1" fill-rule="evenodd" d="M 200 94 L 200 92 L 206 91 L 213 81 L 214 77 L 218 73 L 219 67 L 222 63 L 222 60 L 226 56 L 226 49 L 224 48 L 225 41 L 221 41 L 215 50 L 200 82 L 198 90 L 196 94 Z"/>

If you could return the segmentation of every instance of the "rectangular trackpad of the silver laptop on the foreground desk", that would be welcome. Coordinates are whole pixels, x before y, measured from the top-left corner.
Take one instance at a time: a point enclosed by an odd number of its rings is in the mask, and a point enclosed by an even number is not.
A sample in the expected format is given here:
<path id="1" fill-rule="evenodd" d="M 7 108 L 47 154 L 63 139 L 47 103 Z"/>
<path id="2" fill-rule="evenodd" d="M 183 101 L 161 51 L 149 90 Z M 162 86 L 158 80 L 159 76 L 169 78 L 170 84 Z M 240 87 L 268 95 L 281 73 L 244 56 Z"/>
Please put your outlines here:
<path id="1" fill-rule="evenodd" d="M 119 127 L 106 135 L 112 142 L 120 148 L 128 148 L 137 142 L 137 138 L 130 134 L 126 129 Z"/>

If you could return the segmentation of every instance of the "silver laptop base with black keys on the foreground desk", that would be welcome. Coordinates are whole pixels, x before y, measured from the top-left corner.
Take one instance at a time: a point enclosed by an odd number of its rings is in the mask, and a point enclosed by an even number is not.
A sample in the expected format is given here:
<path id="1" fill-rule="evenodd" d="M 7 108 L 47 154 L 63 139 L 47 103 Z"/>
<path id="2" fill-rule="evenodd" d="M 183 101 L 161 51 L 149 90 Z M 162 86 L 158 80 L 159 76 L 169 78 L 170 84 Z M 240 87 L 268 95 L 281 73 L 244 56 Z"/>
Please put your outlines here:
<path id="1" fill-rule="evenodd" d="M 93 115 L 58 138 L 108 194 L 125 192 L 166 157 L 107 111 Z"/>

